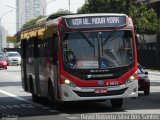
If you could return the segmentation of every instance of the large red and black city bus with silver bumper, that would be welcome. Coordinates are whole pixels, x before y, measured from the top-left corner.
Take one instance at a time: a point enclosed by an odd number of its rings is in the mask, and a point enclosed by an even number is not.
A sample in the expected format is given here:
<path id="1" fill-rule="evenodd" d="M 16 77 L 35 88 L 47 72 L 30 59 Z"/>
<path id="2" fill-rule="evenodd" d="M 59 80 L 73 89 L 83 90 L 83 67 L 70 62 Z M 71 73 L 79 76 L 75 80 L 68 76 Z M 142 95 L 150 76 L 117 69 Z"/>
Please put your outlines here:
<path id="1" fill-rule="evenodd" d="M 22 84 L 54 102 L 138 96 L 132 19 L 125 14 L 50 16 L 20 32 Z"/>

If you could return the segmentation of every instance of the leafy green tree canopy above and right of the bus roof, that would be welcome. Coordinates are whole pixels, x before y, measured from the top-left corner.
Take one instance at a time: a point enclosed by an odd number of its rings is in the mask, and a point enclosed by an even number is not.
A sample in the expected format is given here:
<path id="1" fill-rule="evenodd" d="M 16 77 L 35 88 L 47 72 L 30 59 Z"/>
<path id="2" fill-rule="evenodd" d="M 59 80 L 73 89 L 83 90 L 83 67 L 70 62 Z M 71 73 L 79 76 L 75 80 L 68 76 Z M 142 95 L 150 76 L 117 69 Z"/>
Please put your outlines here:
<path id="1" fill-rule="evenodd" d="M 77 13 L 124 13 L 133 19 L 137 33 L 160 30 L 160 20 L 155 11 L 136 0 L 86 0 Z"/>

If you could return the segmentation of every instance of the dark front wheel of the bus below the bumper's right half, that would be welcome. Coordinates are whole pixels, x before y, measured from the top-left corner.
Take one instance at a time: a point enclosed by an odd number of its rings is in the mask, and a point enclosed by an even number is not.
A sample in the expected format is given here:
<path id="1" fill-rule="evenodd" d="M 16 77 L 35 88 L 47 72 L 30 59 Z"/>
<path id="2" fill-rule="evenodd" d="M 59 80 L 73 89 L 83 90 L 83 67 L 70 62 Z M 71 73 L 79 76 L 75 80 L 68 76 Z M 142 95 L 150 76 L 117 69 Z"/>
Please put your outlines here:
<path id="1" fill-rule="evenodd" d="M 123 99 L 111 99 L 111 105 L 113 108 L 122 108 L 123 105 Z"/>

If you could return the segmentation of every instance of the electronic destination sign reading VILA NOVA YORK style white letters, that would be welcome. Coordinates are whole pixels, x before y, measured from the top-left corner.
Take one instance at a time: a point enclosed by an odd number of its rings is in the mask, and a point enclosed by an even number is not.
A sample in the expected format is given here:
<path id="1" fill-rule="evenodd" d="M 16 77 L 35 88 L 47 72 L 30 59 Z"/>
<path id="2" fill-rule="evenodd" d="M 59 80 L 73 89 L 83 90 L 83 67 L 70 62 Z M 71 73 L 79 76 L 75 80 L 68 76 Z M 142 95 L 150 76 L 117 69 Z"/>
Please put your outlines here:
<path id="1" fill-rule="evenodd" d="M 120 27 L 126 25 L 126 16 L 67 18 L 70 28 Z"/>

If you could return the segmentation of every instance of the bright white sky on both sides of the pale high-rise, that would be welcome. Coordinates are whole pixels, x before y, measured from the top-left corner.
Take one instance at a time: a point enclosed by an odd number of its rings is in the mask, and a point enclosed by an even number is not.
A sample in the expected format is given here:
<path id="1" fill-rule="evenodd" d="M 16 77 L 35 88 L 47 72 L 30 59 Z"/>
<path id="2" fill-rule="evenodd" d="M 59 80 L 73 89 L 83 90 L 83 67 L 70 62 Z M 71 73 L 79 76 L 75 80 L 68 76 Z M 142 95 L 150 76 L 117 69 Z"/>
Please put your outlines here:
<path id="1" fill-rule="evenodd" d="M 50 2 L 52 1 L 52 2 Z M 70 10 L 71 12 L 77 12 L 77 9 L 84 4 L 85 0 L 70 0 Z M 58 11 L 59 9 L 69 10 L 68 0 L 46 0 L 46 13 L 47 15 Z M 6 7 L 6 6 L 11 6 Z M 0 19 L 2 26 L 8 30 L 9 35 L 14 35 L 16 33 L 16 0 L 0 0 Z M 6 11 L 11 12 L 5 13 Z M 2 16 L 3 15 L 3 16 Z"/>

